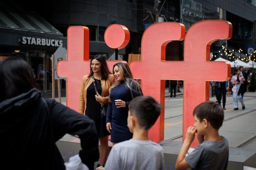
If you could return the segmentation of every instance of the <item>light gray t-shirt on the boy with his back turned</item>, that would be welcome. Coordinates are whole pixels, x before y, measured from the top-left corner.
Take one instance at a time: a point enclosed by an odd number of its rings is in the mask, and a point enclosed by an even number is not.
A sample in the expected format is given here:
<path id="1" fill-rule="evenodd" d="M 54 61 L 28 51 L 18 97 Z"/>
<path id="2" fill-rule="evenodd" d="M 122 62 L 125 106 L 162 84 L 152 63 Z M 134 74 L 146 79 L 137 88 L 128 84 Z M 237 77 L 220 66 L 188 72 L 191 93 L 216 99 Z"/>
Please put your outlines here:
<path id="1" fill-rule="evenodd" d="M 105 170 L 154 169 L 164 170 L 163 148 L 160 144 L 136 139 L 120 142 L 113 146 Z"/>

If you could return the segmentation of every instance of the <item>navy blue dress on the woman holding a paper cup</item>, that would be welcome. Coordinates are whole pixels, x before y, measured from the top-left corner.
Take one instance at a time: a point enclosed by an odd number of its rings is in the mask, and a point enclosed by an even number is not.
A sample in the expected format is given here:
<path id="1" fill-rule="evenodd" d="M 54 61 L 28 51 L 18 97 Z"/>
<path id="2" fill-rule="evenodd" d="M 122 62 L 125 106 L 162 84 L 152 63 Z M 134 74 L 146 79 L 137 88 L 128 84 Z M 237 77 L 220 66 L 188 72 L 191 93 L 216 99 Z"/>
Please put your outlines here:
<path id="1" fill-rule="evenodd" d="M 134 89 L 134 82 L 132 82 L 132 89 Z M 135 91 L 142 92 L 141 89 Z M 136 92 L 132 91 L 134 98 L 143 95 L 142 93 Z M 111 123 L 111 142 L 119 143 L 127 141 L 133 136 L 127 127 L 128 105 L 132 100 L 132 95 L 124 80 L 120 81 L 120 84 L 112 89 L 110 99 L 111 102 L 108 104 L 106 123 Z M 115 100 L 117 99 L 125 101 L 125 108 L 116 108 Z"/>

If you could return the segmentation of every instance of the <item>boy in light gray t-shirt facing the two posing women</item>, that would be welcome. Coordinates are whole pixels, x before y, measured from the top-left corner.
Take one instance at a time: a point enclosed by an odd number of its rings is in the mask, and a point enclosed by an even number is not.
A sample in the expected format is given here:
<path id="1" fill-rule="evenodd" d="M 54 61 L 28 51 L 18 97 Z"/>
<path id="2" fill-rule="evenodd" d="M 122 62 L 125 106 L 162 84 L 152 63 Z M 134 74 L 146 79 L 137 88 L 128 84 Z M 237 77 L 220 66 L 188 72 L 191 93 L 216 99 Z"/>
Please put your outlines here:
<path id="1" fill-rule="evenodd" d="M 128 107 L 127 123 L 133 138 L 113 146 L 105 170 L 164 170 L 162 147 L 148 139 L 148 131 L 160 115 L 160 104 L 151 96 L 138 96 Z"/>

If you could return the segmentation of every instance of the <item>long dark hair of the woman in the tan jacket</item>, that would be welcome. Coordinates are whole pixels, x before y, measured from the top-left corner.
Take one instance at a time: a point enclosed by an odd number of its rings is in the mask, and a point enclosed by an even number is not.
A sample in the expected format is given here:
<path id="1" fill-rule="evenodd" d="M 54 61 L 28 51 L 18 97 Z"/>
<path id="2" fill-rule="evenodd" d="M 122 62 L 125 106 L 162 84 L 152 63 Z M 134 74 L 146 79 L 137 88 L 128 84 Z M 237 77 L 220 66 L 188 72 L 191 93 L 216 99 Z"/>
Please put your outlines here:
<path id="1" fill-rule="evenodd" d="M 90 62 L 91 72 L 90 72 L 90 75 L 88 77 L 93 76 L 93 69 L 91 67 L 93 59 L 98 60 L 101 64 L 101 79 L 102 80 L 108 79 L 108 75 L 111 74 L 111 72 L 108 70 L 107 62 L 106 62 L 106 60 L 104 59 L 104 57 L 102 55 L 96 55 L 91 59 L 91 62 Z"/>

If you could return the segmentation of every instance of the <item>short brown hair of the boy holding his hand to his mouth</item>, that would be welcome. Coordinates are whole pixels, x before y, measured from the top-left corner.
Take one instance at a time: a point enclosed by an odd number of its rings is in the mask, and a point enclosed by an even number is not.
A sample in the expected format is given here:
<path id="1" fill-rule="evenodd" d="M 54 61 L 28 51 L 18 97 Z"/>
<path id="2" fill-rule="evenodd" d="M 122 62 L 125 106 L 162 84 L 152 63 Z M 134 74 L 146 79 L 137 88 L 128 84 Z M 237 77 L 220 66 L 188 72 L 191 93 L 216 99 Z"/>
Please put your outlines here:
<path id="1" fill-rule="evenodd" d="M 193 115 L 196 115 L 200 122 L 206 119 L 216 130 L 219 130 L 222 126 L 224 119 L 224 111 L 221 105 L 213 101 L 206 101 L 198 105 L 194 109 Z"/>

